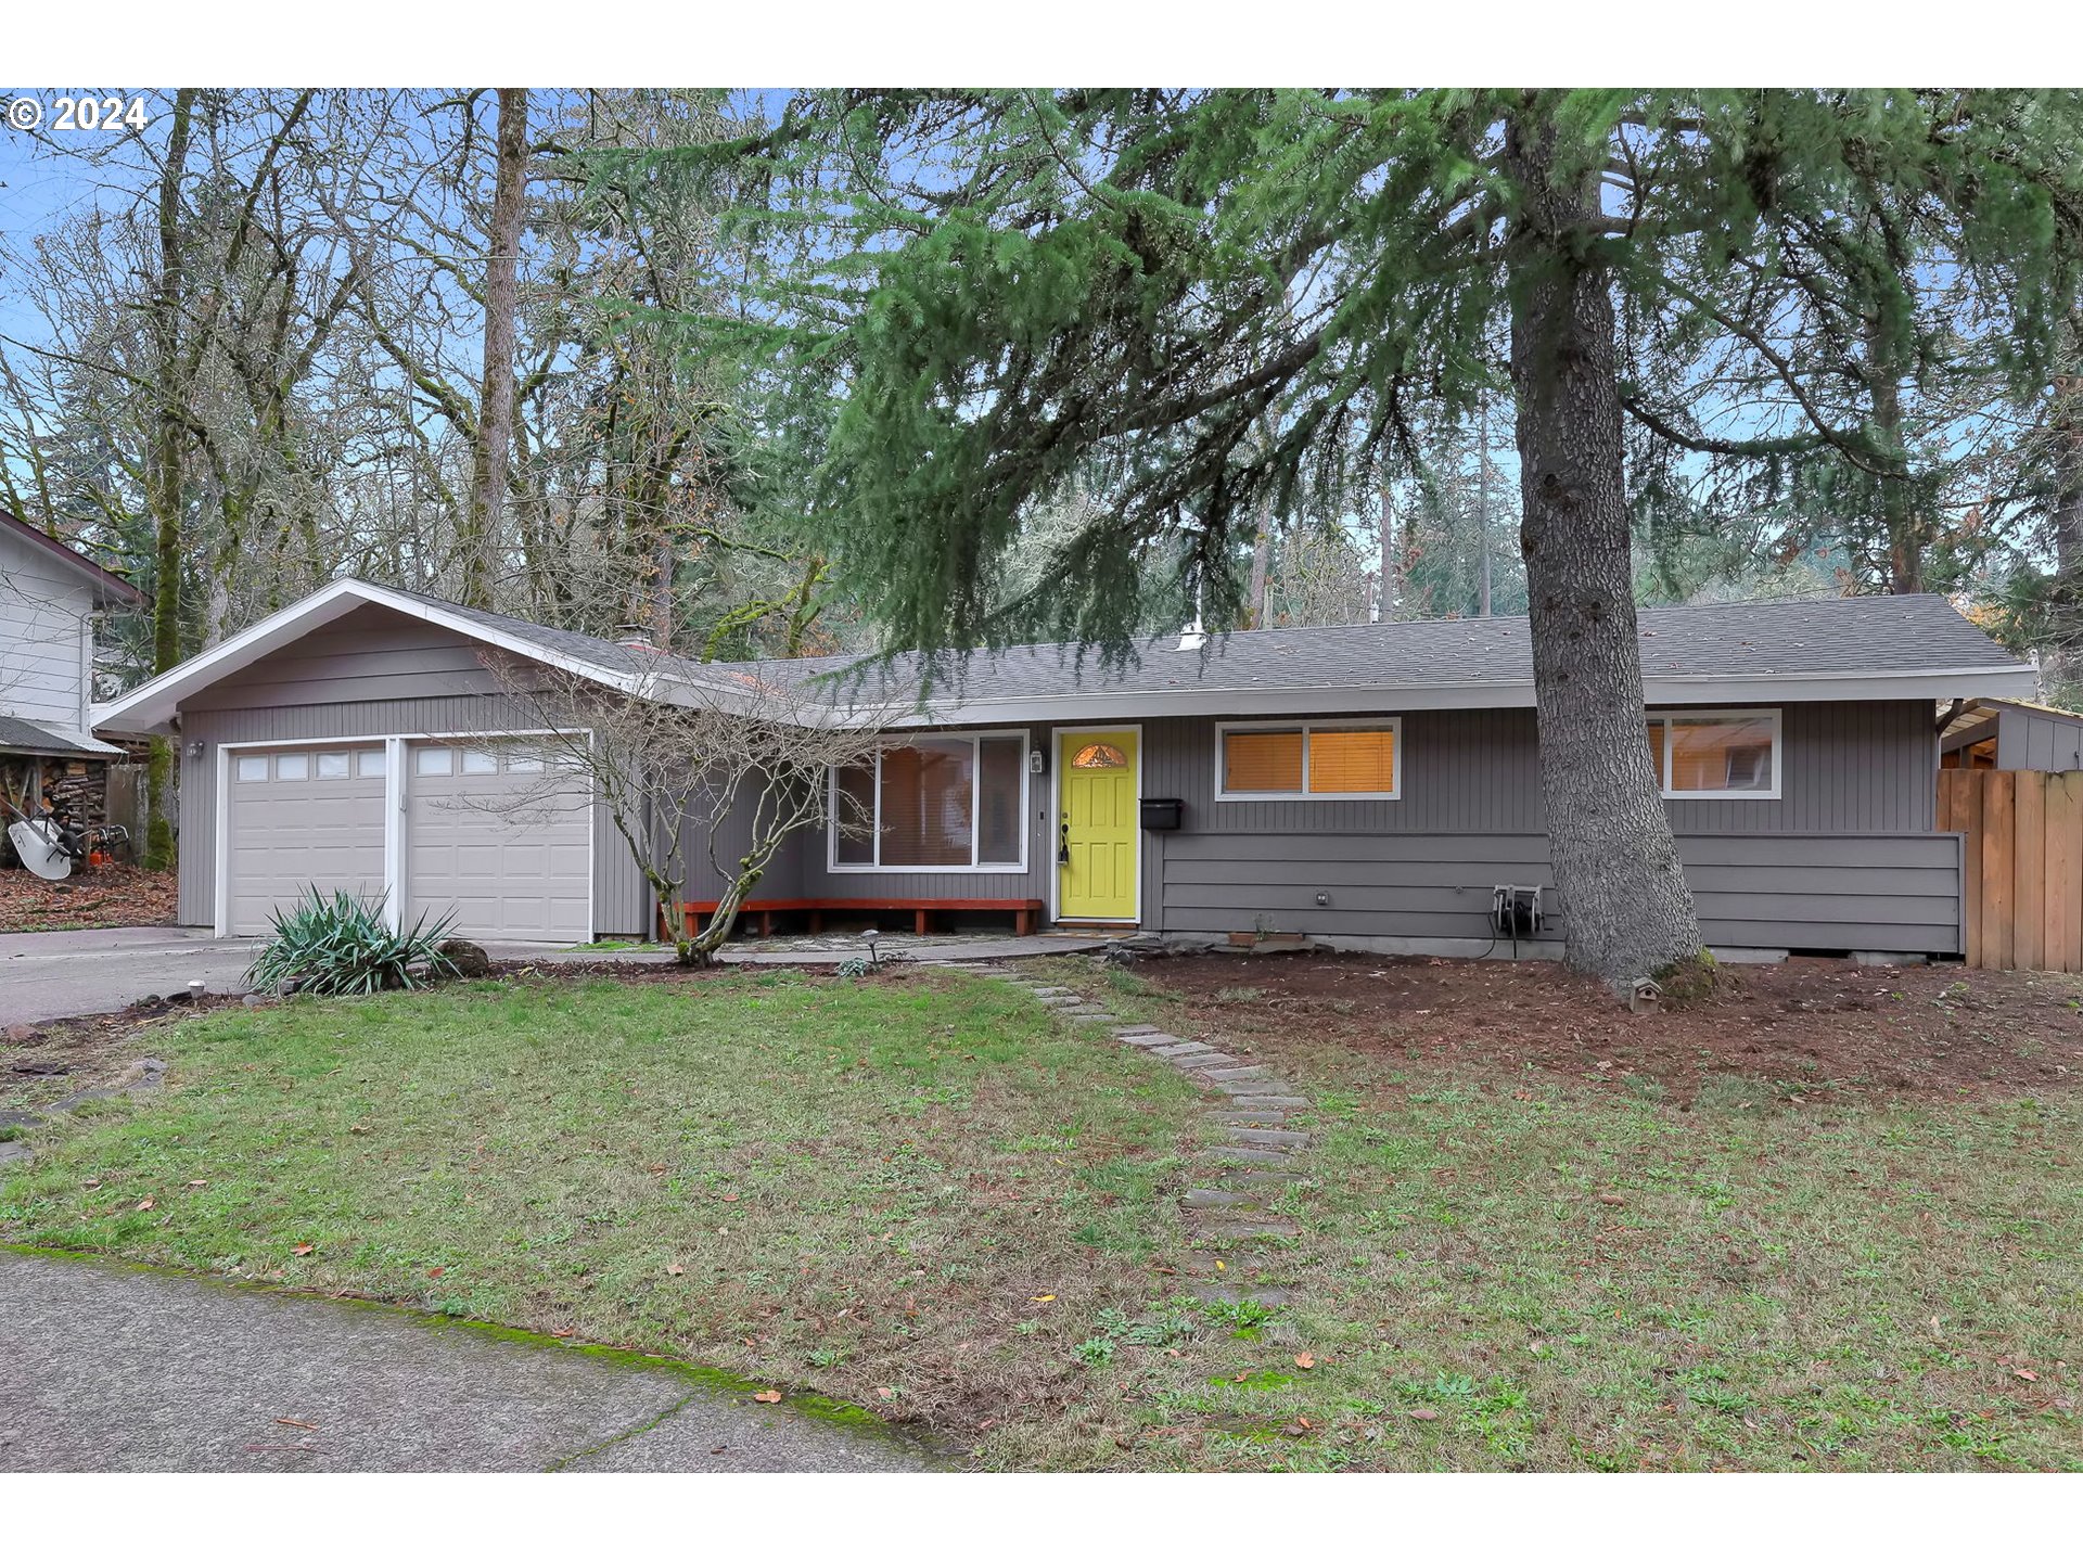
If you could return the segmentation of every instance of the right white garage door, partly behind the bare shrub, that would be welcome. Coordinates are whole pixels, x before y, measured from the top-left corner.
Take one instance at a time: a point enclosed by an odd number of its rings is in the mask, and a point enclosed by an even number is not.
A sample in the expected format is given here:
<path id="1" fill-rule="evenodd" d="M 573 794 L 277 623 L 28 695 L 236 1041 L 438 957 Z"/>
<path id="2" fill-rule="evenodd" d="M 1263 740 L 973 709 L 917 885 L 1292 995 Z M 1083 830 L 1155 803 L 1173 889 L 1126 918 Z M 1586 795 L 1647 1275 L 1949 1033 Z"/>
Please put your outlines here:
<path id="1" fill-rule="evenodd" d="M 404 775 L 406 927 L 454 914 L 481 939 L 583 943 L 592 929 L 594 821 L 585 777 L 525 746 L 412 744 Z M 523 806 L 502 804 L 519 800 Z"/>

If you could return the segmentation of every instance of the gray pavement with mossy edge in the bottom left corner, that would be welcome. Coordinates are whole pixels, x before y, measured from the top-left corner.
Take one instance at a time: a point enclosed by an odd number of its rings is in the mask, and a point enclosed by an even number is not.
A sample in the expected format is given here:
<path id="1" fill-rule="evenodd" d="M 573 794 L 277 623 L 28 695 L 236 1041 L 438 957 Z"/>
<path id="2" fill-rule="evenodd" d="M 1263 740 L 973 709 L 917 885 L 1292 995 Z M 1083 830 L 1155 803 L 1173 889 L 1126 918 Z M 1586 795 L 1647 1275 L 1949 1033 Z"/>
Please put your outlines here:
<path id="1" fill-rule="evenodd" d="M 0 1252 L 8 1470 L 921 1470 L 675 1364 Z"/>

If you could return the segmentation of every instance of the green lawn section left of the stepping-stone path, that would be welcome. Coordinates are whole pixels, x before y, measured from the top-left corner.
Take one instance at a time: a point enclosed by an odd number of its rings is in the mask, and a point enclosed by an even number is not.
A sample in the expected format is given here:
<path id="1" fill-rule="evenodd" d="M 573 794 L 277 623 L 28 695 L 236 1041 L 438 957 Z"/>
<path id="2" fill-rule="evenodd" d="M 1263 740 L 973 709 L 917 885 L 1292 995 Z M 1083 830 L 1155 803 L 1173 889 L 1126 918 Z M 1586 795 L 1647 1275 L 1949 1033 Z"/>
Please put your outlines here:
<path id="1" fill-rule="evenodd" d="M 1069 1462 L 1089 1320 L 1173 1287 L 1194 1091 L 1002 983 L 473 983 L 152 1045 L 169 1089 L 46 1131 L 0 1239 L 667 1352 L 956 1450 L 1048 1425 Z"/>

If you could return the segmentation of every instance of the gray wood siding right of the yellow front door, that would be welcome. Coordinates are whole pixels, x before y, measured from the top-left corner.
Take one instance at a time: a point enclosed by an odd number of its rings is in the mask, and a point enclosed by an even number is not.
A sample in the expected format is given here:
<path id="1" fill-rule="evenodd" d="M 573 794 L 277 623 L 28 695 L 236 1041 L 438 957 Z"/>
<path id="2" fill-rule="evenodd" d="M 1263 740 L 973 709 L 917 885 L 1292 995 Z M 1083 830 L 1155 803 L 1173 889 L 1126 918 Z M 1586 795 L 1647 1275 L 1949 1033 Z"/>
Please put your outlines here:
<path id="1" fill-rule="evenodd" d="M 1489 937 L 1491 885 L 1519 883 L 1560 935 L 1531 710 L 1406 714 L 1396 802 L 1216 802 L 1214 727 L 1144 727 L 1144 796 L 1185 800 L 1181 831 L 1144 835 L 1146 927 Z M 1956 952 L 1935 771 L 1921 702 L 1785 706 L 1779 798 L 1668 804 L 1708 941 Z"/>

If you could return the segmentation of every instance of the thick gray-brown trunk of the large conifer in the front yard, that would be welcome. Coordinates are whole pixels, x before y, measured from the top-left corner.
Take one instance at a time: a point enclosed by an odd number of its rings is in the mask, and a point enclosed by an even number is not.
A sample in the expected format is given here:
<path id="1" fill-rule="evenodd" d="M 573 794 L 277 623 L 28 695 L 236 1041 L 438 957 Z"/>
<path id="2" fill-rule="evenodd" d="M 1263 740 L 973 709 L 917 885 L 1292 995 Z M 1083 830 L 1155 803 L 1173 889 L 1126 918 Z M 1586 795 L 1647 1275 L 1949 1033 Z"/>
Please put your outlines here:
<path id="1" fill-rule="evenodd" d="M 1512 387 L 1541 802 L 1568 964 L 1614 987 L 1700 954 L 1700 921 L 1643 735 L 1610 275 L 1548 115 L 1512 121 Z"/>

